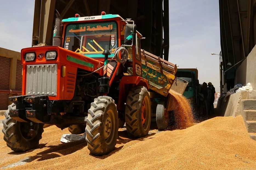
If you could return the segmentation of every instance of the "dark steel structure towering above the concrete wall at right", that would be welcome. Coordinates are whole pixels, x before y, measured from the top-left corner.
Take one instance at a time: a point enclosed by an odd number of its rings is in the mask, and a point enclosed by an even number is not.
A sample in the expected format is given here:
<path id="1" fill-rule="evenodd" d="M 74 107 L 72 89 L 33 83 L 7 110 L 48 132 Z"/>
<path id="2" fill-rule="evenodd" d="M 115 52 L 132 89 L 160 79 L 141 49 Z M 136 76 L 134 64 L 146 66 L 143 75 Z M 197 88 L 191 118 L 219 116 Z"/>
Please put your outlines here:
<path id="1" fill-rule="evenodd" d="M 256 44 L 255 2 L 256 0 L 219 0 L 223 81 L 227 63 L 238 63 L 235 65 L 238 68 L 242 63 L 240 61 L 248 56 Z"/>

